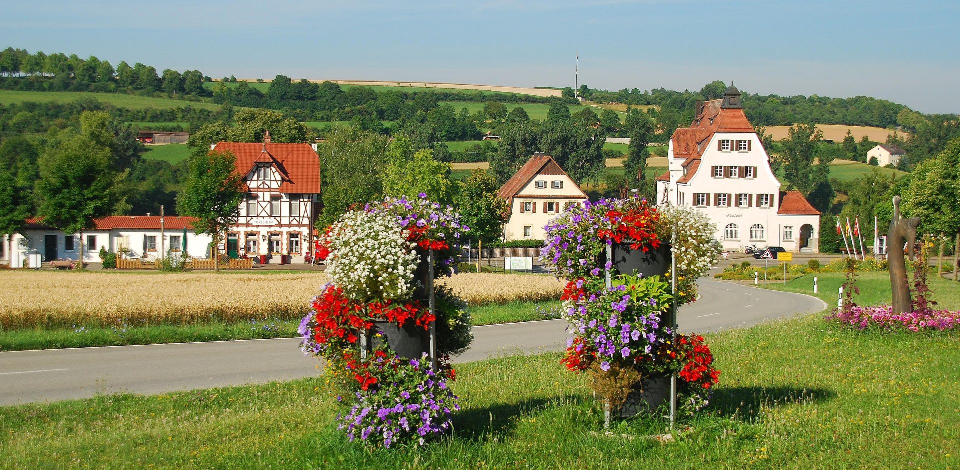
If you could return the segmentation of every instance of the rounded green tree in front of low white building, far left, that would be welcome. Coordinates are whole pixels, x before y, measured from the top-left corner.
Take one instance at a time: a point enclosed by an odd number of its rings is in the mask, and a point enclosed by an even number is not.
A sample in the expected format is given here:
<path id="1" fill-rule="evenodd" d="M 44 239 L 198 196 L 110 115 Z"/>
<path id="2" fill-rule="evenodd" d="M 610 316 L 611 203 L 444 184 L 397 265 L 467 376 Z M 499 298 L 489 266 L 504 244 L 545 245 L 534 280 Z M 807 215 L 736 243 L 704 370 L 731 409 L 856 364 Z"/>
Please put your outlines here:
<path id="1" fill-rule="evenodd" d="M 113 208 L 113 155 L 88 135 L 65 130 L 60 144 L 40 157 L 36 193 L 39 215 L 73 235 L 80 233 L 80 260 L 84 263 L 84 228 L 107 216 Z"/>

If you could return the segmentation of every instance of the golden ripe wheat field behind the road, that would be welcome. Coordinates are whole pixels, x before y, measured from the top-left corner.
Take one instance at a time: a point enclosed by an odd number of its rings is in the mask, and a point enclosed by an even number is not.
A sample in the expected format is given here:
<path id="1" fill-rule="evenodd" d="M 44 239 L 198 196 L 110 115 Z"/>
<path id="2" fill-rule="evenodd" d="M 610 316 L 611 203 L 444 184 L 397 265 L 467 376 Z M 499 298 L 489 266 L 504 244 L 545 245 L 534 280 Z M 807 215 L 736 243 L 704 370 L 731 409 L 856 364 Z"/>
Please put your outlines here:
<path id="1" fill-rule="evenodd" d="M 192 324 L 306 315 L 323 273 L 0 271 L 0 328 Z M 441 281 L 444 282 L 444 281 Z M 549 276 L 459 274 L 447 285 L 471 304 L 557 299 Z"/>

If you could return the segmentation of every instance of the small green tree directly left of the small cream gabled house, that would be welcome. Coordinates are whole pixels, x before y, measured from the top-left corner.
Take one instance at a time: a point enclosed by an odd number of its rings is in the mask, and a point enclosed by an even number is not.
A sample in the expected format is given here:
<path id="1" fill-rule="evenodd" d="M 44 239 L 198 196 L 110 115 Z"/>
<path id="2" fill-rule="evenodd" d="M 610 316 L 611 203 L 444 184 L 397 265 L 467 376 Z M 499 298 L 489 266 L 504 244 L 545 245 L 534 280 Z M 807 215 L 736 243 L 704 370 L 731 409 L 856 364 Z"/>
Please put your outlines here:
<path id="1" fill-rule="evenodd" d="M 496 178 L 486 171 L 474 170 L 461 184 L 458 205 L 463 223 L 470 227 L 470 237 L 485 242 L 500 239 L 510 208 L 506 200 L 497 196 L 500 185 Z"/>

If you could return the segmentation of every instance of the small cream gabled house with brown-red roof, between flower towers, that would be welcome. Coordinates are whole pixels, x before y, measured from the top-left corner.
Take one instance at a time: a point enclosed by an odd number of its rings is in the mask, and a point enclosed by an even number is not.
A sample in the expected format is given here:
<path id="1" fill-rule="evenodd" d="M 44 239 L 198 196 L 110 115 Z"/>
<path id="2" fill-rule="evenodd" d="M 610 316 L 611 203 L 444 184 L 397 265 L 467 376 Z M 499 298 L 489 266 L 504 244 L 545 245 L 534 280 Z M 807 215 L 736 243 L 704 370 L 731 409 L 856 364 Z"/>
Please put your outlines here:
<path id="1" fill-rule="evenodd" d="M 507 201 L 510 217 L 503 226 L 503 241 L 543 240 L 543 227 L 571 204 L 588 200 L 564 169 L 544 153 L 534 156 L 497 195 Z"/>

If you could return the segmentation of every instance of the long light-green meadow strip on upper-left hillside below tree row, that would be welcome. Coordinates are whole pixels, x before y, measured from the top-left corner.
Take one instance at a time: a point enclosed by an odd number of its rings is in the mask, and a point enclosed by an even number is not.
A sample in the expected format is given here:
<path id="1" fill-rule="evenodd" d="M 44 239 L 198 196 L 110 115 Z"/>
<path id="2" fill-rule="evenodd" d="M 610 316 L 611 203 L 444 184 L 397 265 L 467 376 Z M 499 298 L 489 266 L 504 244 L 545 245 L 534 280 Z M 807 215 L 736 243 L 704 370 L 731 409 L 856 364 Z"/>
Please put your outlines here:
<path id="1" fill-rule="evenodd" d="M 176 109 L 191 106 L 200 109 L 220 110 L 222 106 L 208 102 L 189 102 L 167 98 L 124 95 L 120 93 L 84 93 L 70 91 L 12 91 L 0 90 L 0 105 L 13 105 L 25 102 L 34 103 L 71 103 L 77 100 L 94 99 L 100 103 L 128 109 Z"/>

